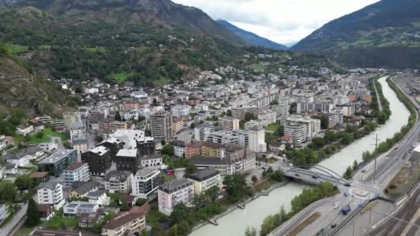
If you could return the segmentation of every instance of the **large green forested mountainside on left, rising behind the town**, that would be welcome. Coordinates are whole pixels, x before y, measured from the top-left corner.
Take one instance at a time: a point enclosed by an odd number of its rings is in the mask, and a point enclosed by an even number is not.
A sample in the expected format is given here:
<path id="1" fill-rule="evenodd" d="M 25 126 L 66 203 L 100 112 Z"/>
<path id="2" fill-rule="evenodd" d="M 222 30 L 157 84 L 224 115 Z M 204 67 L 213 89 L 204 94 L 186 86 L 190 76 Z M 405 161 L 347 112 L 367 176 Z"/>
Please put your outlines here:
<path id="1" fill-rule="evenodd" d="M 245 43 L 168 0 L 0 0 L 0 42 L 46 77 L 162 85 L 229 65 Z"/>

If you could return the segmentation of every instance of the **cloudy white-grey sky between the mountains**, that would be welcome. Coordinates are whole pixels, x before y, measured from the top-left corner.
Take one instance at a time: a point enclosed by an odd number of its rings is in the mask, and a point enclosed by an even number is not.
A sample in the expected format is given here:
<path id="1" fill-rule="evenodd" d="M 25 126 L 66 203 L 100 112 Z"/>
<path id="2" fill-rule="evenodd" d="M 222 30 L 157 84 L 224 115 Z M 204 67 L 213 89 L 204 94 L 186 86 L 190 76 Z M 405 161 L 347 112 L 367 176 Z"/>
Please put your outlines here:
<path id="1" fill-rule="evenodd" d="M 303 39 L 323 24 L 379 0 L 172 0 L 195 6 L 213 19 L 278 43 Z"/>

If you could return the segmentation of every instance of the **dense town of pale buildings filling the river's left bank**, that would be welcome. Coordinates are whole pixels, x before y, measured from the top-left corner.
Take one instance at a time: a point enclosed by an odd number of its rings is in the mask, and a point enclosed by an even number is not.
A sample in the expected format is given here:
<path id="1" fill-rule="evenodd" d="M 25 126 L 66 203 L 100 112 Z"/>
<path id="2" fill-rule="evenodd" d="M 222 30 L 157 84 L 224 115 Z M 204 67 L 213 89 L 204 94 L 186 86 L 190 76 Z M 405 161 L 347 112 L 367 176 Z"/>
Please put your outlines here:
<path id="1" fill-rule="evenodd" d="M 227 66 L 162 87 L 61 79 L 77 109 L 15 110 L 15 135 L 0 136 L 0 232 L 186 235 L 217 224 L 283 181 L 282 167 L 317 164 L 383 124 L 372 79 L 383 72 Z"/>

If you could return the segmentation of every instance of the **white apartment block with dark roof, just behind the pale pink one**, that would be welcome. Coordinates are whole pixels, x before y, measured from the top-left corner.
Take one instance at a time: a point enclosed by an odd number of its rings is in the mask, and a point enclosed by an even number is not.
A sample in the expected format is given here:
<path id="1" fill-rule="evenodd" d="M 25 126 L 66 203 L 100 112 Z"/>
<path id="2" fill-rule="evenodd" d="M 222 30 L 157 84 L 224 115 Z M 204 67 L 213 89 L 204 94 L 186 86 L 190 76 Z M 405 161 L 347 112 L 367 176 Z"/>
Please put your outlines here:
<path id="1" fill-rule="evenodd" d="M 200 195 L 213 186 L 220 188 L 222 184 L 220 172 L 213 168 L 197 170 L 195 173 L 187 175 L 186 177 L 193 181 L 195 195 Z"/>

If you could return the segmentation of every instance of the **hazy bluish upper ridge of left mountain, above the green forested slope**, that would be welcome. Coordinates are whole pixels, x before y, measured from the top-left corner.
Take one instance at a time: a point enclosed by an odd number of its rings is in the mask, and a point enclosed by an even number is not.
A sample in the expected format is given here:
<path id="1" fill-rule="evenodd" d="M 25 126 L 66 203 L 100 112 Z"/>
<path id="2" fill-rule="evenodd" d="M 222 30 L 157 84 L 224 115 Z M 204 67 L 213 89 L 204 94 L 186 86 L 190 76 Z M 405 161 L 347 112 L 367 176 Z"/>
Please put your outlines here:
<path id="1" fill-rule="evenodd" d="M 0 6 L 31 6 L 55 16 L 93 14 L 108 23 L 152 23 L 165 28 L 184 28 L 229 41 L 242 41 L 213 21 L 202 10 L 169 0 L 0 0 Z"/>

